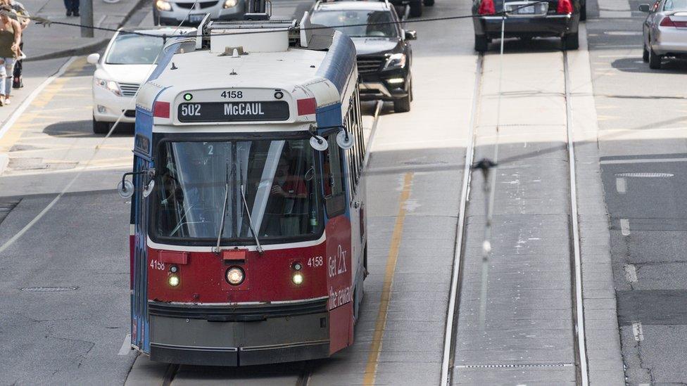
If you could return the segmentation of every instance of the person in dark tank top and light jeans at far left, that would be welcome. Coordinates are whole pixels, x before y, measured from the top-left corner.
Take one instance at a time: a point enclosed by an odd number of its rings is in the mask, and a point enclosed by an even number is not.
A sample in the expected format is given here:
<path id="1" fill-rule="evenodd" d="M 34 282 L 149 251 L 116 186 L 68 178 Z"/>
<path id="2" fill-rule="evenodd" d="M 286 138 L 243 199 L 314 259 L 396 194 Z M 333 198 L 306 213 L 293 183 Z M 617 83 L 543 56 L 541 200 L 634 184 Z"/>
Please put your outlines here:
<path id="1" fill-rule="evenodd" d="M 12 8 L 0 7 L 0 106 L 10 103 L 14 63 L 20 52 L 21 25 L 15 17 Z"/>

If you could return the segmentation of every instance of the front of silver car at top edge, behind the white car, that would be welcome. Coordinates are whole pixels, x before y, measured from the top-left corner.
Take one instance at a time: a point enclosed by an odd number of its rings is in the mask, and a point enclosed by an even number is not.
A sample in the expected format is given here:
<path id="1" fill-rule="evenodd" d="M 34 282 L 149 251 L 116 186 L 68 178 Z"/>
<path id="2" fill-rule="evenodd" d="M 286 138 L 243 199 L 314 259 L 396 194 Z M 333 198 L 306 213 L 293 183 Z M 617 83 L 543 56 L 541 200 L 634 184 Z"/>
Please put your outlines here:
<path id="1" fill-rule="evenodd" d="M 155 0 L 153 19 L 158 25 L 198 25 L 206 13 L 211 20 L 235 20 L 246 13 L 245 0 Z"/>

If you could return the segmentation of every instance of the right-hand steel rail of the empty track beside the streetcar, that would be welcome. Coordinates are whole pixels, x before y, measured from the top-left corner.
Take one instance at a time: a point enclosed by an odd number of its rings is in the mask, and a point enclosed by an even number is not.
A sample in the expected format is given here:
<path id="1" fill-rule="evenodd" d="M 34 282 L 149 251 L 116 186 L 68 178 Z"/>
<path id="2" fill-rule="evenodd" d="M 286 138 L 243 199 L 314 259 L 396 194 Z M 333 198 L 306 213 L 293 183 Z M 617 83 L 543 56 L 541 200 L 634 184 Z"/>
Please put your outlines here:
<path id="1" fill-rule="evenodd" d="M 572 131 L 572 101 L 570 97 L 570 71 L 567 52 L 563 51 L 563 74 L 565 78 L 565 126 L 567 131 L 568 172 L 570 179 L 570 227 L 572 228 L 573 266 L 574 266 L 574 327 L 575 352 L 579 361 L 579 385 L 588 386 L 587 354 L 584 330 L 584 304 L 582 301 L 582 258 L 580 252 L 579 213 L 577 211 L 577 179 L 575 167 L 575 143 Z"/>

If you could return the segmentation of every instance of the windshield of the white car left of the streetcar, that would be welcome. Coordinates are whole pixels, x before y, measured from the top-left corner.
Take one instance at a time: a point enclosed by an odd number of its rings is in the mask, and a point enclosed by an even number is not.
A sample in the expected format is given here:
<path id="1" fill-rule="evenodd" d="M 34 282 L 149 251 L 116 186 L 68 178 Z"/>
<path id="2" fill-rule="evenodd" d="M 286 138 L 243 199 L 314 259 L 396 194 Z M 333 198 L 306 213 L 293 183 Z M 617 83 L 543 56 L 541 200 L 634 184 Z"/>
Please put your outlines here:
<path id="1" fill-rule="evenodd" d="M 162 50 L 163 40 L 162 37 L 119 34 L 108 52 L 105 63 L 153 64 Z"/>

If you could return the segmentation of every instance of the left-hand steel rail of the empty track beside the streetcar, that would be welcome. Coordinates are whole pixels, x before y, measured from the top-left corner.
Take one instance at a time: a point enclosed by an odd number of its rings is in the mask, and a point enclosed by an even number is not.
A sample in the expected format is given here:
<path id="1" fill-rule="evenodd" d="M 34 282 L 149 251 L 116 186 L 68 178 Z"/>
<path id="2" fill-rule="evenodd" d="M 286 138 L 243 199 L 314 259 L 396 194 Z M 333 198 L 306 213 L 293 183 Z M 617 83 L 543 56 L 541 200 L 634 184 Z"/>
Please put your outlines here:
<path id="1" fill-rule="evenodd" d="M 448 296 L 448 309 L 446 311 L 446 330 L 444 331 L 443 356 L 441 361 L 441 383 L 440 385 L 450 385 L 453 376 L 453 354 L 455 352 L 454 325 L 458 321 L 458 302 L 460 300 L 460 282 L 462 278 L 462 259 L 464 257 L 464 238 L 465 238 L 465 211 L 467 210 L 467 199 L 469 196 L 470 177 L 472 174 L 472 161 L 474 158 L 474 132 L 476 117 L 479 108 L 481 94 L 482 67 L 484 55 L 477 56 L 477 67 L 474 75 L 474 85 L 472 89 L 472 108 L 467 131 L 467 146 L 465 148 L 465 167 L 463 167 L 462 188 L 460 190 L 460 204 L 458 207 L 458 224 L 455 231 L 455 247 L 453 252 L 453 271 L 451 273 L 450 293 Z"/>

